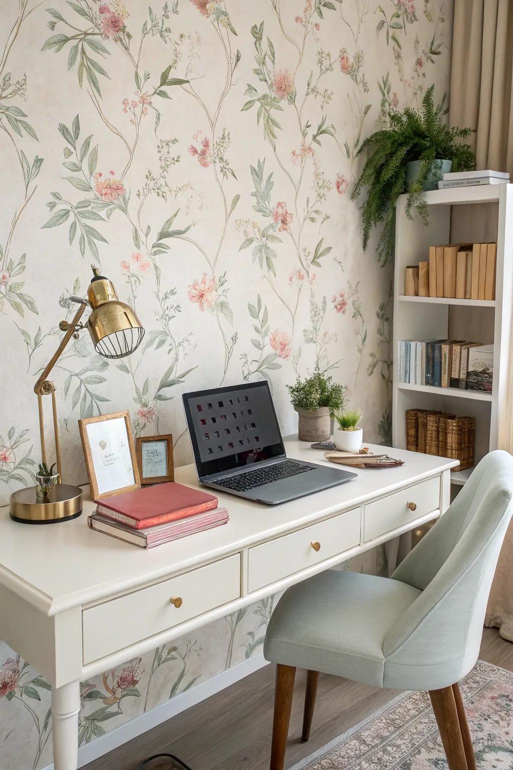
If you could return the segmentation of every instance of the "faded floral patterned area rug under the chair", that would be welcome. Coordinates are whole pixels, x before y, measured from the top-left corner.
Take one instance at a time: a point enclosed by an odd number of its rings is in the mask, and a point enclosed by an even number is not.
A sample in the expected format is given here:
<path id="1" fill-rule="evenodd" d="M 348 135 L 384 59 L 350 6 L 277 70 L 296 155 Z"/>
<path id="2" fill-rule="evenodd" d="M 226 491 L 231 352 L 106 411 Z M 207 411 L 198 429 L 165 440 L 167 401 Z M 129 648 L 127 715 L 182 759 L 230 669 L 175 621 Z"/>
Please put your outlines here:
<path id="1" fill-rule="evenodd" d="M 460 687 L 479 770 L 511 770 L 513 674 L 478 661 Z M 447 770 L 447 767 L 428 693 L 406 692 L 291 770 Z"/>

